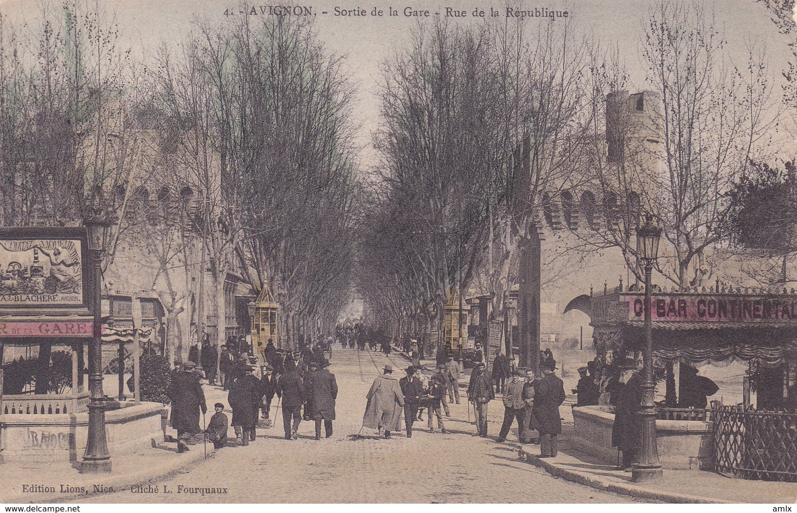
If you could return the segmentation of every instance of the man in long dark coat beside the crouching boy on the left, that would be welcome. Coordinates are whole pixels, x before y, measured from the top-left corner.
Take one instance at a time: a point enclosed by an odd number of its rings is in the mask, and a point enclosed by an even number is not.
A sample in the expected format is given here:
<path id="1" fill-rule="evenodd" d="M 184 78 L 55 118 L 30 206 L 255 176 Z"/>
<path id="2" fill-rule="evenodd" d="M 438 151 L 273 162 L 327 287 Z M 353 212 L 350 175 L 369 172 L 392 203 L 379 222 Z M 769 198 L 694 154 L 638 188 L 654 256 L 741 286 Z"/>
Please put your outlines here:
<path id="1" fill-rule="evenodd" d="M 199 412 L 207 412 L 205 393 L 194 373 L 194 362 L 185 362 L 171 378 L 167 395 L 171 400 L 171 426 L 177 429 L 177 451 L 186 452 L 188 444 L 194 444 L 194 435 L 199 433 Z"/>

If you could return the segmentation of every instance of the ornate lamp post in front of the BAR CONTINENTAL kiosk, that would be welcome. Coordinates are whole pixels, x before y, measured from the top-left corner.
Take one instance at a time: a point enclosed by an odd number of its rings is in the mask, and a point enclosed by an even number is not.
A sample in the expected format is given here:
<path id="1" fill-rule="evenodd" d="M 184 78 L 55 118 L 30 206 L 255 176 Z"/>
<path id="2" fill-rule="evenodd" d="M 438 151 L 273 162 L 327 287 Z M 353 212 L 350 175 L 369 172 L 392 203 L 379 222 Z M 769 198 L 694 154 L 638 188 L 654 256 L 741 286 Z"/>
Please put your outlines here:
<path id="1" fill-rule="evenodd" d="M 662 229 L 654 222 L 651 215 L 645 216 L 645 222 L 637 229 L 637 254 L 645 266 L 645 347 L 642 351 L 645 366 L 642 377 L 642 409 L 639 415 L 642 420 L 642 451 L 639 463 L 635 463 L 631 478 L 636 482 L 654 481 L 662 477 L 662 464 L 658 462 L 658 446 L 656 444 L 656 404 L 654 394 L 656 382 L 653 377 L 653 291 L 650 286 L 650 273 L 654 260 L 658 258 L 658 242 Z"/>

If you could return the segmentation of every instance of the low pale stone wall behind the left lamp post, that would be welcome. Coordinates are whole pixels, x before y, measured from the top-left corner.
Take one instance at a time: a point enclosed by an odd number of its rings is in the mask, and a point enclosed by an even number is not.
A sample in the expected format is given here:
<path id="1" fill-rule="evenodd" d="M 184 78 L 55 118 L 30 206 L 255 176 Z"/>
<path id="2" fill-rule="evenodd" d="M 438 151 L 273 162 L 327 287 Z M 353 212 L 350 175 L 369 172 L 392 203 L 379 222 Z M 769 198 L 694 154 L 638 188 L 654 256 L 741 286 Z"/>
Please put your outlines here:
<path id="1" fill-rule="evenodd" d="M 143 402 L 105 412 L 108 451 L 163 442 L 160 403 Z M 88 413 L 0 415 L 0 462 L 79 461 L 88 440 Z"/>

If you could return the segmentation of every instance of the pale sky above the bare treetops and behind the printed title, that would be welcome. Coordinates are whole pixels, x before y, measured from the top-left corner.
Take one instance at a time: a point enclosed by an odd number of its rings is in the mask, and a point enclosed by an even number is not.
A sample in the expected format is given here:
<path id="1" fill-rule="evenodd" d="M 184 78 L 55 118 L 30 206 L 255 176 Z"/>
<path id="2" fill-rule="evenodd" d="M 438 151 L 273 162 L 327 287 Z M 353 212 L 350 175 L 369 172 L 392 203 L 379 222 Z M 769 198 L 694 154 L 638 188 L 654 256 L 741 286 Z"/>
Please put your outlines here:
<path id="1" fill-rule="evenodd" d="M 206 17 L 210 22 L 223 24 L 230 22 L 240 10 L 238 0 L 97 0 L 109 13 L 116 12 L 117 22 L 123 37 L 128 38 L 134 54 L 155 49 L 162 42 L 167 45 L 179 45 L 181 37 L 196 17 Z M 351 73 L 359 91 L 358 104 L 355 106 L 355 115 L 362 123 L 363 130 L 359 136 L 359 143 L 367 146 L 371 141 L 370 132 L 378 126 L 378 99 L 375 95 L 379 84 L 380 65 L 391 55 L 395 49 L 406 45 L 412 26 L 419 19 L 433 21 L 436 12 L 443 16 L 446 7 L 465 10 L 465 18 L 451 18 L 457 23 L 481 22 L 471 14 L 475 8 L 489 12 L 491 3 L 479 0 L 456 0 L 453 2 L 405 2 L 396 0 L 370 0 L 369 2 L 351 2 L 341 0 L 331 2 L 328 0 L 301 0 L 296 2 L 249 2 L 250 5 L 261 6 L 280 5 L 310 6 L 315 15 L 316 29 L 320 39 L 327 48 L 338 54 L 346 55 L 347 70 Z M 604 45 L 616 44 L 625 56 L 625 64 L 631 72 L 634 88 L 643 88 L 641 64 L 637 57 L 638 41 L 642 33 L 642 18 L 646 16 L 649 6 L 654 0 L 550 0 L 549 2 L 508 2 L 509 6 L 516 6 L 524 10 L 547 8 L 548 10 L 567 10 L 571 21 L 578 29 L 594 34 L 595 39 Z M 36 9 L 31 0 L 0 0 L 0 11 L 9 14 L 11 18 L 20 15 L 26 18 L 35 17 Z M 494 6 L 503 5 L 502 2 L 493 3 Z M 367 16 L 335 16 L 334 10 L 362 9 Z M 387 16 L 388 8 L 392 6 L 398 16 Z M 403 14 L 405 7 L 414 10 L 430 10 L 430 18 L 406 17 Z M 733 57 L 744 64 L 748 41 L 755 41 L 756 45 L 766 45 L 769 56 L 769 65 L 773 76 L 780 76 L 780 71 L 785 69 L 786 62 L 791 56 L 787 49 L 787 37 L 779 34 L 775 25 L 769 19 L 768 12 L 760 2 L 753 0 L 707 0 L 705 6 L 714 10 L 717 26 L 724 29 Z M 374 8 L 383 10 L 382 17 L 371 16 Z M 267 9 L 267 8 L 266 8 Z M 496 7 L 497 10 L 499 10 Z M 235 12 L 234 16 L 226 17 L 225 10 Z M 322 14 L 327 11 L 328 14 Z M 501 19 L 504 19 L 505 9 L 501 8 Z M 548 18 L 532 18 L 524 22 L 526 25 L 540 23 L 558 23 L 549 21 Z M 779 95 L 779 88 L 776 91 Z M 363 152 L 364 163 L 370 163 L 373 153 L 370 148 Z"/>

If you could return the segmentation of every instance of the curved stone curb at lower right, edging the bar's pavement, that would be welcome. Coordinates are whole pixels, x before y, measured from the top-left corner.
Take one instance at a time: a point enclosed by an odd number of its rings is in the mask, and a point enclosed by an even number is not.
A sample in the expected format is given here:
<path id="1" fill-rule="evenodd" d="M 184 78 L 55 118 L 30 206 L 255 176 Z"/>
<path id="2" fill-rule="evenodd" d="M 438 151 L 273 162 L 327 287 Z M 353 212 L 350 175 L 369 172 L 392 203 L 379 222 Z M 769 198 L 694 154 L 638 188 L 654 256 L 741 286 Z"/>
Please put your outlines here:
<path id="1" fill-rule="evenodd" d="M 578 472 L 569 468 L 541 459 L 539 456 L 528 452 L 525 448 L 520 448 L 520 454 L 526 457 L 526 461 L 536 467 L 544 468 L 552 476 L 561 477 L 574 483 L 595 488 L 602 491 L 612 491 L 621 495 L 630 495 L 638 499 L 661 500 L 666 503 L 689 503 L 689 504 L 733 504 L 732 502 L 721 499 L 709 499 L 697 495 L 686 495 L 680 493 L 656 491 L 650 488 L 643 488 L 633 484 L 614 484 L 599 477 L 591 476 L 586 472 Z"/>

